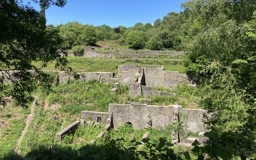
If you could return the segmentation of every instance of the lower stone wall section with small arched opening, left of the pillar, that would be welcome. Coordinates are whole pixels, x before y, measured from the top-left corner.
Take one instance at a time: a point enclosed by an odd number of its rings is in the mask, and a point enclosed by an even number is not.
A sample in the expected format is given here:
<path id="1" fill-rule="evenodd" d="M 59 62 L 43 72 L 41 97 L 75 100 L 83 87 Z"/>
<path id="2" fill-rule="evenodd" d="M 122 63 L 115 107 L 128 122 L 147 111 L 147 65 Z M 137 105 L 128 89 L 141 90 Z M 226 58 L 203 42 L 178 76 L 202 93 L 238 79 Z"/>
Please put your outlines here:
<path id="1" fill-rule="evenodd" d="M 152 127 L 163 129 L 172 122 L 172 106 L 154 106 L 145 104 L 109 105 L 113 115 L 113 127 L 131 123 L 135 129 L 142 129 L 151 121 Z"/>

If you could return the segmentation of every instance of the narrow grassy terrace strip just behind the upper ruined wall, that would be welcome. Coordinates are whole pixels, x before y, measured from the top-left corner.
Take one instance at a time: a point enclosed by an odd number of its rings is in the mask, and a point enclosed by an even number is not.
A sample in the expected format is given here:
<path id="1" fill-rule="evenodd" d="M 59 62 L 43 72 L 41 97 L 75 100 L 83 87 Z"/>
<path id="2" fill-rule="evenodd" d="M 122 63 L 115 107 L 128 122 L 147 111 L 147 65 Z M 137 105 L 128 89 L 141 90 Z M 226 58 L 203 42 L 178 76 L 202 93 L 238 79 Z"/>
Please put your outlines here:
<path id="1" fill-rule="evenodd" d="M 85 58 L 85 57 L 67 57 L 68 66 L 72 67 L 74 71 L 78 72 L 115 72 L 119 65 L 138 64 L 141 67 L 147 65 L 163 65 L 165 70 L 179 71 L 185 73 L 185 67 L 179 59 L 166 59 L 166 58 L 146 58 L 146 59 L 121 59 L 121 58 Z M 169 61 L 168 61 L 169 60 Z M 33 63 L 37 67 L 41 66 L 40 62 Z M 49 63 L 45 70 L 56 71 L 54 63 Z"/>

